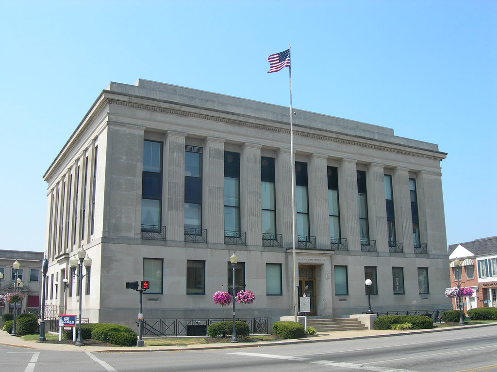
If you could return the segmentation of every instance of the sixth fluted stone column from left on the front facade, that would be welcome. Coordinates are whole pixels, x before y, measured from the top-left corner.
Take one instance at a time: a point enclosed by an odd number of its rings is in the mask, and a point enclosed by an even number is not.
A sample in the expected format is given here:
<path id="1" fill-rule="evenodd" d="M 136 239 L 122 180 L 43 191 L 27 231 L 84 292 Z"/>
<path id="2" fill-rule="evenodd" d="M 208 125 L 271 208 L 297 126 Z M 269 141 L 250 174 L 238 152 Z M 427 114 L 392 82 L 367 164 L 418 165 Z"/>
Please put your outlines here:
<path id="1" fill-rule="evenodd" d="M 349 250 L 361 250 L 356 164 L 357 160 L 342 159 L 338 168 L 341 233 Z"/>

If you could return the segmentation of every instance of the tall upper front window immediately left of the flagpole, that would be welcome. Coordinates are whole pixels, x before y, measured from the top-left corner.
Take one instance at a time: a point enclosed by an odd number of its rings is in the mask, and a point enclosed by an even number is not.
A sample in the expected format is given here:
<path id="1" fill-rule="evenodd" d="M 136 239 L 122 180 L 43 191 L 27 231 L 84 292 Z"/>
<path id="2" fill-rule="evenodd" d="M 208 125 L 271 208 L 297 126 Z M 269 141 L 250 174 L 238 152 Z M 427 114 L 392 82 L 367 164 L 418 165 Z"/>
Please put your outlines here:
<path id="1" fill-rule="evenodd" d="M 260 181 L 262 237 L 265 239 L 275 239 L 276 194 L 274 186 L 274 158 L 260 158 Z"/>

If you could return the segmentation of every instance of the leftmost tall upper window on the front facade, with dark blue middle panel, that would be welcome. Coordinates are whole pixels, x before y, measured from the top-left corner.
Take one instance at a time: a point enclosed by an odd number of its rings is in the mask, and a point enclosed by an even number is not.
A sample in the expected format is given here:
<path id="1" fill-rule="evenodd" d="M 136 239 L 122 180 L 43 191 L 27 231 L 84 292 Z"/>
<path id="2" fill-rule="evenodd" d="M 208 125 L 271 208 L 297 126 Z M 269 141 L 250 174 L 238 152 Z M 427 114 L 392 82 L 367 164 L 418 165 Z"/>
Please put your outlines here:
<path id="1" fill-rule="evenodd" d="M 144 141 L 142 230 L 159 229 L 162 224 L 162 154 L 162 142 Z"/>

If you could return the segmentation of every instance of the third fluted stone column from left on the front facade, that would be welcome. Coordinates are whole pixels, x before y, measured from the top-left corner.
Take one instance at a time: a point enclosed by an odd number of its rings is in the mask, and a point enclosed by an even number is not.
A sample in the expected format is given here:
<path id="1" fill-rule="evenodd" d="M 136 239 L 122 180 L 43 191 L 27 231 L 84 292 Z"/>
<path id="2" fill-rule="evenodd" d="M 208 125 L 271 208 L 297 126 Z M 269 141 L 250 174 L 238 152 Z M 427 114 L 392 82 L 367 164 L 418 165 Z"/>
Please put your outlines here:
<path id="1" fill-rule="evenodd" d="M 260 201 L 260 148 L 246 143 L 240 154 L 241 230 L 246 232 L 247 246 L 262 246 Z"/>

